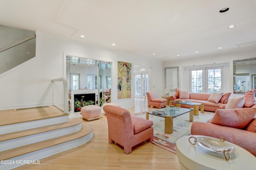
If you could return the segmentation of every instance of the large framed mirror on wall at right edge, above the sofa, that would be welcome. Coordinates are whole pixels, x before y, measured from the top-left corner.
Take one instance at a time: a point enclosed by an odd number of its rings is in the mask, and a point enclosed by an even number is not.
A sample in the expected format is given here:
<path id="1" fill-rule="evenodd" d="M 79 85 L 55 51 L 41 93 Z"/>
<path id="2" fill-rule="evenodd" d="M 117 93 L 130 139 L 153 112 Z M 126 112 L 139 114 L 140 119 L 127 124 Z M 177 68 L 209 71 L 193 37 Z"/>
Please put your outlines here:
<path id="1" fill-rule="evenodd" d="M 256 58 L 233 61 L 234 94 L 245 94 L 256 88 Z"/>

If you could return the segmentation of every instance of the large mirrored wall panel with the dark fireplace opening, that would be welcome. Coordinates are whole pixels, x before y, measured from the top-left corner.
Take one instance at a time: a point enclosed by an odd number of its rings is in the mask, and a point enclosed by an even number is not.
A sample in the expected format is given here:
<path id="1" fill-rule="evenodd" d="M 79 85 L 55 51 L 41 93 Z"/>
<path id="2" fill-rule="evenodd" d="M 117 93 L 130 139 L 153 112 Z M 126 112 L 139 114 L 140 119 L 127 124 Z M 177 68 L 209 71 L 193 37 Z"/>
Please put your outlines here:
<path id="1" fill-rule="evenodd" d="M 104 92 L 111 88 L 111 65 L 108 61 L 66 56 L 70 113 L 79 112 L 83 106 L 104 104 Z"/>

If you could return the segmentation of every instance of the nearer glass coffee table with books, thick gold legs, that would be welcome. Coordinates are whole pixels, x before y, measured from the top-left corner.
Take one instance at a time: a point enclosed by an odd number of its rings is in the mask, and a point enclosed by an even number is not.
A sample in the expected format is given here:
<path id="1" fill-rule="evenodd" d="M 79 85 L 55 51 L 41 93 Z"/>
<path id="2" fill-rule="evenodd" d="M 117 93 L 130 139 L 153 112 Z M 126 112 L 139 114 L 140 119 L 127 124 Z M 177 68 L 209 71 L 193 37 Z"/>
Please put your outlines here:
<path id="1" fill-rule="evenodd" d="M 155 111 L 158 111 L 159 113 L 163 113 L 162 115 L 158 115 L 155 113 Z M 149 115 L 155 115 L 159 117 L 163 117 L 164 119 L 164 132 L 171 134 L 173 132 L 173 118 L 179 115 L 183 115 L 185 113 L 189 112 L 189 121 L 194 121 L 194 113 L 193 108 L 184 108 L 184 107 L 176 107 L 175 111 L 170 111 L 169 109 L 166 110 L 166 108 L 161 109 L 154 109 L 146 112 L 146 119 L 149 119 Z"/>

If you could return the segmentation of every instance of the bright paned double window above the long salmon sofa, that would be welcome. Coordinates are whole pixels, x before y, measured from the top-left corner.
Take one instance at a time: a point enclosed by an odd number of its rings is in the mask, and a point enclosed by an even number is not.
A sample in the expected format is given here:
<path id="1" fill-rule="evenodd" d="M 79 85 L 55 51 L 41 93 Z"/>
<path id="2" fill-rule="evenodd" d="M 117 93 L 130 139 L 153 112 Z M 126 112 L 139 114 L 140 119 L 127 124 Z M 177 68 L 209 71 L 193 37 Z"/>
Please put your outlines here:
<path id="1" fill-rule="evenodd" d="M 221 92 L 222 69 L 222 66 L 190 69 L 190 92 Z"/>

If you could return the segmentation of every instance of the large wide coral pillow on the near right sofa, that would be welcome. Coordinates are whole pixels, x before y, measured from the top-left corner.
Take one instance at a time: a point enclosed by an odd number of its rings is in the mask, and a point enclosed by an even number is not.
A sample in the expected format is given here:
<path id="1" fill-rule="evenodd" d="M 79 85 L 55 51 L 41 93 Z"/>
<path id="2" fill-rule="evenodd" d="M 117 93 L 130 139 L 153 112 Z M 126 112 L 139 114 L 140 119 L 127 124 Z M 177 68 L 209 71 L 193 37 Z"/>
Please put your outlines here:
<path id="1" fill-rule="evenodd" d="M 217 109 L 210 123 L 243 129 L 255 114 L 256 108 Z"/>

